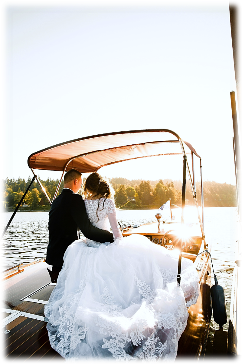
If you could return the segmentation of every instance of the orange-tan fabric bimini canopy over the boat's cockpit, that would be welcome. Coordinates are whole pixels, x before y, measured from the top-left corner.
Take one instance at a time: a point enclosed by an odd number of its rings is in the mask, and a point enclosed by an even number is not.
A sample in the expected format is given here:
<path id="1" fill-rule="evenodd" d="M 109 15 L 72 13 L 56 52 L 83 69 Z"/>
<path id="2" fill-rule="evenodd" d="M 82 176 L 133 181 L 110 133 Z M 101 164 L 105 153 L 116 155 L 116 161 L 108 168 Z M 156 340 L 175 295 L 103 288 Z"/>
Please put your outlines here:
<path id="1" fill-rule="evenodd" d="M 33 153 L 28 165 L 34 169 L 91 173 L 113 163 L 157 155 L 182 154 L 179 135 L 168 129 L 120 131 L 93 135 L 54 145 Z M 198 157 L 196 150 L 186 146 Z"/>

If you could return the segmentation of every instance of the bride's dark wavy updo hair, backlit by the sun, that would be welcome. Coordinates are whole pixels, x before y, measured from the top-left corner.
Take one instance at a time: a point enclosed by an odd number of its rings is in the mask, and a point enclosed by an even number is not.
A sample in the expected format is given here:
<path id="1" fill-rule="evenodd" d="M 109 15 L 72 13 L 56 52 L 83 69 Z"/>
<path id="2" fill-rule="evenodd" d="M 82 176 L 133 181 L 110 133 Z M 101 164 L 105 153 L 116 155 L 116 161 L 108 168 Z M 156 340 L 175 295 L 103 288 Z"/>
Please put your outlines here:
<path id="1" fill-rule="evenodd" d="M 114 189 L 110 182 L 101 177 L 98 173 L 90 174 L 82 185 L 82 196 L 87 198 L 89 193 L 91 195 L 111 198 L 114 200 Z"/>

